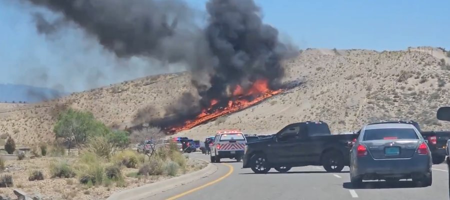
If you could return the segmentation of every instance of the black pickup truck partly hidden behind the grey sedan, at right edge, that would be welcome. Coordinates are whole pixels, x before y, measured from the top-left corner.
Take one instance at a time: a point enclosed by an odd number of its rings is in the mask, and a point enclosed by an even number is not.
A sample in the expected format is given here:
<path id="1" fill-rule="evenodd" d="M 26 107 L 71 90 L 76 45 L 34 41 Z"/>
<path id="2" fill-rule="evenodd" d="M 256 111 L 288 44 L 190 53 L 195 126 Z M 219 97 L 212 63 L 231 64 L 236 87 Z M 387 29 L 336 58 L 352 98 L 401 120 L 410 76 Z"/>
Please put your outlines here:
<path id="1" fill-rule="evenodd" d="M 440 164 L 445 160 L 447 140 L 450 139 L 450 131 L 422 131 L 420 125 L 416 121 L 384 121 L 377 123 L 409 123 L 415 126 L 426 140 L 428 148 L 431 151 L 433 164 Z M 372 123 L 376 124 L 376 123 Z M 359 131 L 358 131 L 359 132 Z"/>

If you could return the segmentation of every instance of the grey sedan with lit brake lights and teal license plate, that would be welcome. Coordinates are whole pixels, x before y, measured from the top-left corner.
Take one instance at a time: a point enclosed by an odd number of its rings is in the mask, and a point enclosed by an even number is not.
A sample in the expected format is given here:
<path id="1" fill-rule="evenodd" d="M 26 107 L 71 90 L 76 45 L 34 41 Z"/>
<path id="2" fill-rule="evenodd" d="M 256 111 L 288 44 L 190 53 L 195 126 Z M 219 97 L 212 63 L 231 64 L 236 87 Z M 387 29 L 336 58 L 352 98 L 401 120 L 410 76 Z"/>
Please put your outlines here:
<path id="1" fill-rule="evenodd" d="M 350 181 L 420 181 L 432 183 L 431 152 L 420 132 L 411 124 L 368 124 L 361 128 L 350 149 Z"/>

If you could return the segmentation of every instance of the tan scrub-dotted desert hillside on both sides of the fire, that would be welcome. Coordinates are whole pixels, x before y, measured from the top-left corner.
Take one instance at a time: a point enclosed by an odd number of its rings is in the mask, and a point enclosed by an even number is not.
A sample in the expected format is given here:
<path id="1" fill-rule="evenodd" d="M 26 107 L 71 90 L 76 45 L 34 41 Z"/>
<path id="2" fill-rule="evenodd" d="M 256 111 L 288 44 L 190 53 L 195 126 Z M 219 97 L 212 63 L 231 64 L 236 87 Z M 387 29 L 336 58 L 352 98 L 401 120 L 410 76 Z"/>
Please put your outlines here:
<path id="1" fill-rule="evenodd" d="M 442 50 L 432 49 L 307 49 L 284 63 L 284 79 L 301 80 L 301 86 L 177 135 L 200 139 L 222 128 L 271 133 L 304 120 L 324 120 L 333 132 L 382 119 L 413 119 L 423 129 L 447 129 L 450 123 L 438 121 L 435 111 L 450 102 L 450 65 L 441 59 L 450 60 Z M 194 91 L 187 73 L 125 81 L 52 102 L 2 108 L 0 133 L 24 144 L 51 141 L 55 116 L 67 106 L 89 110 L 110 126 L 130 127 L 141 122 L 136 118 L 162 116 L 164 106 Z"/>

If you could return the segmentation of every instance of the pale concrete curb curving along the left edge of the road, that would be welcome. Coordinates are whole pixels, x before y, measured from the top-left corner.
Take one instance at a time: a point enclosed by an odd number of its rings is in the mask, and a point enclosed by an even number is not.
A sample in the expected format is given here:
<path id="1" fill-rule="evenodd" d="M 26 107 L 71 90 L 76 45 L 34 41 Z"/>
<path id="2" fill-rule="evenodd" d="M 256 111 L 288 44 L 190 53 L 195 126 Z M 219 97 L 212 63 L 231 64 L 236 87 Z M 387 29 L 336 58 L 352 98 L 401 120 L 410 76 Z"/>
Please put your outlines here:
<path id="1" fill-rule="evenodd" d="M 190 158 L 197 159 L 197 158 Z M 203 159 L 197 159 L 205 161 Z M 112 193 L 106 200 L 141 200 L 146 199 L 155 194 L 173 189 L 177 186 L 184 185 L 195 180 L 208 177 L 210 174 L 216 172 L 218 167 L 208 162 L 208 165 L 198 171 L 190 172 L 173 178 L 145 184 L 139 187 L 134 187 L 118 192 Z"/>

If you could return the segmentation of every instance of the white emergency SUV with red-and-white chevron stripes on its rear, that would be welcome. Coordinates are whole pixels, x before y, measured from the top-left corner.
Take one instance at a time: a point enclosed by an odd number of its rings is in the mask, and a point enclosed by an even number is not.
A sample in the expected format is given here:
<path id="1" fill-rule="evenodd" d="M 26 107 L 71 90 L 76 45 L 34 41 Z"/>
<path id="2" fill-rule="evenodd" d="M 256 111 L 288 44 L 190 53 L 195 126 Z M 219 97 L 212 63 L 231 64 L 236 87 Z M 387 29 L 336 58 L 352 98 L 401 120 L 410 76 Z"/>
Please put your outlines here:
<path id="1" fill-rule="evenodd" d="M 236 159 L 238 162 L 244 155 L 244 134 L 239 130 L 220 130 L 215 134 L 211 145 L 211 162 L 220 162 L 221 158 Z"/>

